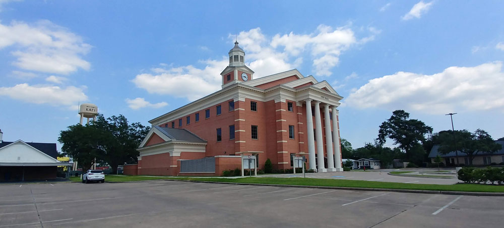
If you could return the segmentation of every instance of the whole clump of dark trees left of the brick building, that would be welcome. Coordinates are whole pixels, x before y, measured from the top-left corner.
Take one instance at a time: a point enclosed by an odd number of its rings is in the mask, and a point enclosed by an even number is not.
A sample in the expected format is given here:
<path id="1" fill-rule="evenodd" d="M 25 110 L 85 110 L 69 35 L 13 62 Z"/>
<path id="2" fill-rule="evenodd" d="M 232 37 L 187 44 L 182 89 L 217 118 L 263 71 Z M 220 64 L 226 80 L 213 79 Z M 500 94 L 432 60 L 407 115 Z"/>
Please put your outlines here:
<path id="1" fill-rule="evenodd" d="M 140 123 L 129 123 L 119 115 L 104 118 L 99 114 L 96 121 L 86 125 L 72 125 L 59 134 L 61 155 L 69 156 L 88 170 L 95 163 L 108 164 L 112 173 L 117 166 L 137 163 L 137 148 L 149 132 L 150 127 Z"/>

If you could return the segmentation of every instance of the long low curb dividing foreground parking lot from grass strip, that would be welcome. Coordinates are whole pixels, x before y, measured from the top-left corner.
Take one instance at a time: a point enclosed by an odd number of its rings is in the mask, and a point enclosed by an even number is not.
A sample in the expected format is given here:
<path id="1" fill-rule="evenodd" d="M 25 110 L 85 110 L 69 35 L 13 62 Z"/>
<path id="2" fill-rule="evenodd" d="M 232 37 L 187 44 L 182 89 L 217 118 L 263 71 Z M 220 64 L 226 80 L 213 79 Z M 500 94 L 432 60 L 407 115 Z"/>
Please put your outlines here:
<path id="1" fill-rule="evenodd" d="M 443 195 L 504 196 L 504 192 L 466 192 L 466 191 L 438 191 L 438 190 L 414 190 L 414 189 L 333 187 L 333 186 L 308 186 L 308 185 L 287 185 L 287 184 L 232 183 L 232 182 L 215 182 L 215 181 L 201 181 L 201 180 L 173 180 L 173 179 L 162 179 L 162 180 L 165 180 L 165 181 L 198 182 L 198 183 L 216 183 L 216 184 L 236 184 L 236 185 L 257 185 L 257 186 L 273 186 L 273 187 L 292 187 L 292 188 L 320 188 L 320 189 L 341 189 L 341 190 L 357 190 L 357 191 L 388 191 L 388 192 L 422 193 L 422 194 L 443 194 Z"/>

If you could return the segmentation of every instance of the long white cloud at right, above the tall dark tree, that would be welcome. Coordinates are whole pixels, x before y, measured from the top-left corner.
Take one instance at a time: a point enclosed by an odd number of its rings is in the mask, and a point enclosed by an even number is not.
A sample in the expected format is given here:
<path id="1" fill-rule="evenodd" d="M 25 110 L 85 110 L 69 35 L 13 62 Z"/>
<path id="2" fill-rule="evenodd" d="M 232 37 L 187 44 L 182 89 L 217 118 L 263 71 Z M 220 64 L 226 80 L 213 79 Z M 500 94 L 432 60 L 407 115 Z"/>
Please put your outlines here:
<path id="1" fill-rule="evenodd" d="M 414 109 L 442 114 L 463 110 L 504 110 L 502 62 L 449 67 L 425 75 L 397 72 L 353 91 L 345 103 L 357 108 Z"/>

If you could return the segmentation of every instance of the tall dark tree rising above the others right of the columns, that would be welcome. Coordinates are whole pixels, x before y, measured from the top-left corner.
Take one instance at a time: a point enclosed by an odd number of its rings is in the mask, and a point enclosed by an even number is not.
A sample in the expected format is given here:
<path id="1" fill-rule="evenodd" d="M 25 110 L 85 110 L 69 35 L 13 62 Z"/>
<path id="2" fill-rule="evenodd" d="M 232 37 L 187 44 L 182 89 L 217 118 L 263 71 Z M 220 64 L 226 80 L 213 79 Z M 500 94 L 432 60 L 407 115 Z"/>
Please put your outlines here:
<path id="1" fill-rule="evenodd" d="M 425 135 L 431 134 L 432 128 L 425 125 L 425 123 L 409 119 L 409 113 L 404 110 L 395 110 L 392 116 L 380 125 L 378 132 L 378 142 L 384 145 L 387 138 L 394 140 L 394 145 L 406 152 L 406 158 L 412 162 L 421 162 L 425 150 L 418 146 L 425 142 Z M 419 154 L 422 153 L 421 159 Z"/>

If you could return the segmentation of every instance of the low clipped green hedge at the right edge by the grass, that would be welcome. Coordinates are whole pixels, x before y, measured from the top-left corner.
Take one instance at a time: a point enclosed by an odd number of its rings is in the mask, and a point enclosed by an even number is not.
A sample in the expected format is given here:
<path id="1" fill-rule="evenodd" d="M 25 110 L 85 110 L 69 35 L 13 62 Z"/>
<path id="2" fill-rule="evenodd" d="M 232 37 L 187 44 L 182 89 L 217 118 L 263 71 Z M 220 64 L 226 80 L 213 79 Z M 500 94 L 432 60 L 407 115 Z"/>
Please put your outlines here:
<path id="1" fill-rule="evenodd" d="M 502 184 L 504 183 L 504 168 L 475 169 L 464 167 L 459 170 L 459 180 L 466 183 Z"/>

